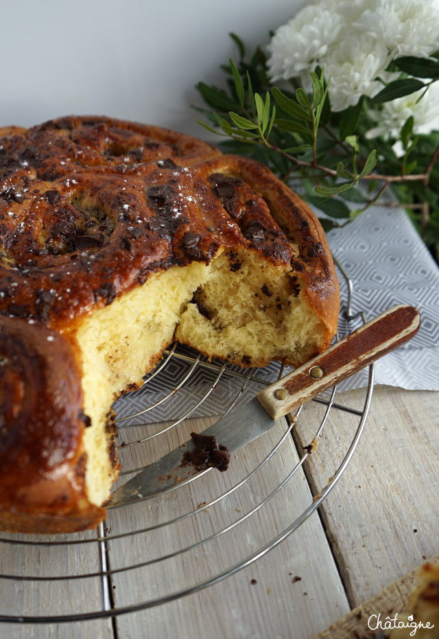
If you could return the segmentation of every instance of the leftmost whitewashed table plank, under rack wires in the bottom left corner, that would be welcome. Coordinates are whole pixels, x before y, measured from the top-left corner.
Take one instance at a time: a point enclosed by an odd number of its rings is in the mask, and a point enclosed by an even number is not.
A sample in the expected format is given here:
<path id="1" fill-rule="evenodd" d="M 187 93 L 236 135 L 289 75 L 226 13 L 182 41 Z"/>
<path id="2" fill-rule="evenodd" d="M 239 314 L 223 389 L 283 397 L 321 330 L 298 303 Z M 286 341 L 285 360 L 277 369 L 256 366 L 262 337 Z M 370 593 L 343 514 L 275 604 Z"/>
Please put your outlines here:
<path id="1" fill-rule="evenodd" d="M 77 535 L 12 535 L 1 534 L 0 544 L 0 614 L 4 616 L 71 615 L 96 612 L 103 609 L 102 581 L 100 577 L 84 577 L 99 572 L 99 548 L 96 531 Z M 36 542 L 36 545 L 12 544 Z M 93 539 L 78 545 L 64 544 L 71 540 Z M 59 546 L 43 546 L 39 542 L 63 542 Z M 10 575 L 15 579 L 6 579 Z M 21 581 L 20 576 L 36 577 Z M 72 579 L 62 579 L 63 576 Z M 75 579 L 79 576 L 79 579 Z M 40 581 L 39 578 L 56 577 Z M 60 579 L 58 579 L 58 577 Z M 84 625 L 83 625 L 84 624 Z M 84 623 L 1 623 L 0 637 L 8 639 L 82 639 L 93 636 L 108 639 L 112 636 L 110 619 L 90 620 Z"/>

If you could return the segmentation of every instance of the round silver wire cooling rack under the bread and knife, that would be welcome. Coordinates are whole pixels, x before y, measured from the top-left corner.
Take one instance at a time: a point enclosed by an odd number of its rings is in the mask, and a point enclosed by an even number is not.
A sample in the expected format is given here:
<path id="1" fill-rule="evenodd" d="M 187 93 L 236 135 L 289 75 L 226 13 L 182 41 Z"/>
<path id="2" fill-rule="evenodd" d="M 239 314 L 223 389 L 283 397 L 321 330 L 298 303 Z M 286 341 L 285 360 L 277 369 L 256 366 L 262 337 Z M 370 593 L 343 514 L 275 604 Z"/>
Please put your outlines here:
<path id="1" fill-rule="evenodd" d="M 353 316 L 351 283 L 337 266 L 346 281 L 343 315 L 351 332 L 355 321 L 366 319 L 364 314 Z M 217 419 L 215 413 L 233 410 L 286 372 L 277 364 L 242 371 L 173 345 L 141 391 L 115 406 L 123 461 L 119 483 L 153 461 L 152 455 L 161 456 L 189 439 L 191 430 L 206 428 L 206 420 Z M 226 473 L 206 471 L 169 494 L 109 509 L 106 522 L 95 531 L 50 537 L 0 533 L 0 621 L 60 623 L 129 614 L 187 596 L 249 566 L 294 533 L 333 489 L 361 437 L 372 389 L 369 367 L 361 410 L 337 401 L 336 387 L 313 400 L 321 405 L 322 415 L 311 424 L 309 441 L 320 441 L 325 426 L 340 410 L 352 419 L 353 436 L 347 450 L 337 450 L 327 485 L 315 494 L 310 491 L 307 507 L 300 507 L 276 534 L 261 539 L 254 531 L 264 509 L 283 509 L 282 500 L 292 499 L 292 493 L 285 497 L 285 491 L 302 476 L 312 447 L 304 452 L 297 445 L 296 456 L 291 450 L 303 407 L 270 431 L 272 439 L 265 448 L 257 447 L 259 457 L 252 454 L 246 463 L 244 453 L 239 469 L 233 469 L 232 459 Z M 338 448 L 330 437 L 325 446 Z M 325 454 L 322 445 L 318 454 Z M 270 485 L 269 474 L 263 477 L 272 464 L 285 470 L 275 485 Z M 245 498 L 249 494 L 250 500 Z M 237 530 L 246 542 L 234 548 L 227 540 Z"/>

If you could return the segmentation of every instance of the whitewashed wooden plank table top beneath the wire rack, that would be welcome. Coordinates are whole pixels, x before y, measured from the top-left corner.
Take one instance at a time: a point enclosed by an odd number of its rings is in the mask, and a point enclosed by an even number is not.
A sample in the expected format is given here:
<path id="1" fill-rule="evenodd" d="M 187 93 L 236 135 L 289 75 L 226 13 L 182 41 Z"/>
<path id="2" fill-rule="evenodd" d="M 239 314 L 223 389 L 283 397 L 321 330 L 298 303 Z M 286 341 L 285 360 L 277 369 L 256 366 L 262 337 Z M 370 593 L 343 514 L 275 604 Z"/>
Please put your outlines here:
<path id="1" fill-rule="evenodd" d="M 0 623 L 0 637 L 27 638 L 130 638 L 209 639 L 285 638 L 311 639 L 342 616 L 377 595 L 394 581 L 439 551 L 439 393 L 375 388 L 372 408 L 357 450 L 340 481 L 318 511 L 269 553 L 231 577 L 182 599 L 139 612 L 76 623 L 51 625 Z M 338 396 L 343 404 L 361 408 L 364 391 Z M 169 493 L 150 507 L 112 511 L 108 553 L 111 605 L 123 607 L 175 592 L 182 585 L 198 583 L 239 562 L 243 552 L 273 539 L 309 507 L 312 494 L 327 485 L 340 454 L 351 441 L 352 421 L 336 412 L 325 427 L 318 449 L 294 476 L 246 522 L 222 535 L 219 543 L 158 564 L 121 570 L 158 555 L 175 552 L 208 537 L 225 524 L 242 518 L 285 478 L 296 464 L 298 452 L 310 443 L 311 425 L 320 420 L 324 406 L 311 402 L 300 414 L 294 439 L 288 436 L 257 477 L 207 511 L 155 531 L 123 536 L 132 526 L 152 526 L 163 518 L 196 509 L 231 480 L 246 476 L 267 454 L 285 430 L 281 420 L 273 431 L 233 455 L 225 478 L 209 472 L 186 491 Z M 335 413 L 335 411 L 333 411 Z M 200 420 L 189 423 L 187 435 Z M 204 423 L 213 419 L 206 418 Z M 184 436 L 180 430 L 179 437 Z M 169 448 L 177 445 L 169 437 Z M 160 439 L 160 438 L 159 438 Z M 154 455 L 165 450 L 152 441 Z M 134 449 L 123 450 L 130 455 Z M 137 449 L 136 449 L 137 451 Z M 136 452 L 138 454 L 138 452 Z M 126 458 L 126 463 L 128 459 Z M 131 462 L 132 463 L 132 462 Z M 135 461 L 134 461 L 135 465 Z M 291 485 L 290 485 L 291 484 Z M 131 511 L 130 511 L 131 509 Z M 171 532 L 167 528 L 172 528 Z M 96 533 L 85 533 L 95 537 Z M 13 552 L 0 546 L 0 572 L 40 574 L 47 570 L 99 572 L 96 543 L 51 548 L 23 547 Z M 92 550 L 93 549 L 93 550 Z M 44 565 L 43 565 L 44 564 Z M 49 566 L 49 568 L 48 568 Z M 42 573 L 43 574 L 43 573 Z M 50 573 L 51 574 L 51 573 Z M 55 574 L 55 573 L 54 573 Z M 56 572 L 58 574 L 58 572 Z M 135 593 L 133 596 L 132 593 Z M 102 591 L 93 579 L 65 583 L 0 580 L 1 612 L 5 614 L 62 614 L 71 601 L 91 611 L 102 607 Z M 66 598 L 69 600 L 66 602 Z M 69 605 L 68 605 L 69 604 Z M 379 604 L 377 604 L 379 605 Z M 385 612 L 377 609 L 376 614 Z M 358 615 L 357 615 L 358 616 Z M 367 618 L 357 624 L 358 636 L 367 634 Z M 325 635 L 337 637 L 335 634 Z M 346 634 L 353 636 L 352 634 Z"/>

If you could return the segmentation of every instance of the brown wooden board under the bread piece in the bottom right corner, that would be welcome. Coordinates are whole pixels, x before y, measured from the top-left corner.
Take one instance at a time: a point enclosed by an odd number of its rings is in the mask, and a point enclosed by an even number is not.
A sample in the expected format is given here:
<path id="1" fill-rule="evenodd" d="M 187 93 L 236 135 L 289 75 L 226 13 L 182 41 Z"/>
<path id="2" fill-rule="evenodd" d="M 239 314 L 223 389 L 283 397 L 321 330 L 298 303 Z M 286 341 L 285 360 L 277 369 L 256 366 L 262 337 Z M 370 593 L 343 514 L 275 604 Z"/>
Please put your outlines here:
<path id="1" fill-rule="evenodd" d="M 432 563 L 438 562 L 439 554 L 430 557 L 429 560 Z M 412 612 L 409 602 L 418 582 L 417 571 L 418 568 L 415 568 L 405 574 L 404 577 L 392 583 L 375 597 L 351 610 L 349 614 L 316 635 L 314 639 L 352 639 L 352 637 L 355 637 L 355 639 L 376 639 L 377 630 L 375 627 L 379 614 L 381 614 L 383 621 L 386 617 L 394 618 L 396 614 L 399 616 L 399 620 L 403 620 L 401 613 L 410 614 Z M 372 615 L 375 615 L 375 617 L 368 623 Z M 430 636 L 433 639 L 434 635 L 432 633 Z"/>

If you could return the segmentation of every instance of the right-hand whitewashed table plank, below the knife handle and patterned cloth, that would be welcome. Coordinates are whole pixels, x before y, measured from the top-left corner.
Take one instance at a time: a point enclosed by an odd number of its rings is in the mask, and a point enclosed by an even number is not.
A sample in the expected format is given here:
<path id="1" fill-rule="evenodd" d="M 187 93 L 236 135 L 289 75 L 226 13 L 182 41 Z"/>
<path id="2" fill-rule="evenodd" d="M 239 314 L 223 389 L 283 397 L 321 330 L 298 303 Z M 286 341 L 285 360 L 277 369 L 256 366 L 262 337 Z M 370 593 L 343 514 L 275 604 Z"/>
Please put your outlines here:
<path id="1" fill-rule="evenodd" d="M 361 408 L 362 397 L 362 391 L 351 391 L 337 401 Z M 298 446 L 309 441 L 307 424 L 323 408 L 316 402 L 305 406 L 309 420 L 298 423 Z M 305 467 L 316 492 L 327 484 L 338 448 L 353 434 L 348 415 L 333 415 Z M 438 393 L 375 388 L 365 432 L 339 491 L 320 509 L 352 607 L 438 551 L 438 423 Z"/>

